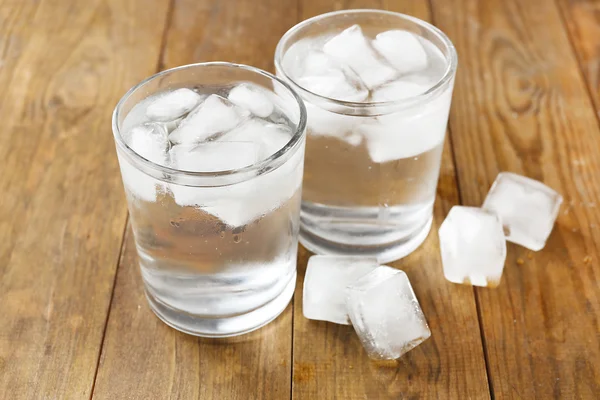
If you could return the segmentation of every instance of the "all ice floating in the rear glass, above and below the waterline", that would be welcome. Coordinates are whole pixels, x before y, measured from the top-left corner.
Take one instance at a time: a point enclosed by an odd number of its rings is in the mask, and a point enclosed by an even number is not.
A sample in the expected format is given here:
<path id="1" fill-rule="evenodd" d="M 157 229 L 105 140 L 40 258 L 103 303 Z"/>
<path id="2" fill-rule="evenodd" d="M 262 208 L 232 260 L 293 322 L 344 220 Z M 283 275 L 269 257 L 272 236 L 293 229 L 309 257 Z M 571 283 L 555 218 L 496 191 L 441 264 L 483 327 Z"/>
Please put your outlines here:
<path id="1" fill-rule="evenodd" d="M 300 40 L 288 49 L 283 68 L 302 88 L 347 102 L 389 102 L 425 93 L 443 76 L 447 60 L 429 40 L 406 30 L 370 38 L 359 25 L 336 35 Z M 364 143 L 373 162 L 414 157 L 444 139 L 451 90 L 418 110 L 361 118 L 307 101 L 311 135 L 352 146 Z"/>

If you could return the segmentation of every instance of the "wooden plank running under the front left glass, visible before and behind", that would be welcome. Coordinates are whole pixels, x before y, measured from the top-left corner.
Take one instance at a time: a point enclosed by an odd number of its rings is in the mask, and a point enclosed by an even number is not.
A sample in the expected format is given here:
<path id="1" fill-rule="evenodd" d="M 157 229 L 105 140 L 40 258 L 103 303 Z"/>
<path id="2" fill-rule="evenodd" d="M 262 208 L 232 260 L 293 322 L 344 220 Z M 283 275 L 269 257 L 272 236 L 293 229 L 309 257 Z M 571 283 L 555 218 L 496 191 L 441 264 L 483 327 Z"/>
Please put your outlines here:
<path id="1" fill-rule="evenodd" d="M 277 41 L 295 21 L 295 7 L 277 0 L 177 1 L 163 65 L 227 60 L 272 69 Z M 146 304 L 129 239 L 94 398 L 289 398 L 291 351 L 291 305 L 268 326 L 233 339 L 199 339 L 167 327 Z"/>

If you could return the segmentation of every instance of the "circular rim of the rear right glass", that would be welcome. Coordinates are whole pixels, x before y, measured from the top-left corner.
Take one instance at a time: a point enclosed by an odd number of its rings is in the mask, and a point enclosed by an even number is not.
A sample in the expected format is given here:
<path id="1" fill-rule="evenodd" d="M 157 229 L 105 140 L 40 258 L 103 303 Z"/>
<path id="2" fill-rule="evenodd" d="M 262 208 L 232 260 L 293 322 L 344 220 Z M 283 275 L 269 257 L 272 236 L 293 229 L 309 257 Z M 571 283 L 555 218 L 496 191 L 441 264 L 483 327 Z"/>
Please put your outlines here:
<path id="1" fill-rule="evenodd" d="M 388 100 L 388 101 L 379 101 L 379 102 L 354 102 L 354 101 L 338 100 L 338 99 L 334 99 L 331 97 L 322 96 L 320 94 L 312 92 L 312 91 L 304 88 L 303 86 L 297 84 L 296 81 L 288 75 L 288 73 L 286 72 L 286 70 L 283 68 L 283 65 L 282 65 L 283 56 L 284 56 L 284 52 L 283 52 L 284 44 L 290 39 L 290 37 L 292 35 L 294 35 L 298 31 L 300 31 L 301 29 L 303 29 L 309 25 L 312 25 L 315 22 L 319 22 L 324 19 L 343 15 L 343 14 L 385 14 L 385 15 L 389 15 L 389 16 L 399 17 L 403 20 L 410 21 L 410 22 L 418 25 L 419 27 L 427 30 L 428 32 L 434 34 L 444 44 L 444 46 L 448 50 L 448 56 L 449 56 L 447 58 L 448 65 L 446 67 L 446 70 L 444 71 L 444 75 L 435 84 L 431 85 L 429 87 L 429 89 L 427 89 L 423 93 L 420 93 L 415 96 L 410 96 L 407 98 L 398 99 L 398 100 Z M 277 43 L 277 47 L 275 48 L 275 68 L 277 71 L 281 71 L 281 73 L 283 74 L 285 79 L 288 80 L 292 84 L 293 88 L 295 90 L 297 90 L 298 92 L 300 92 L 302 95 L 307 96 L 309 99 L 314 98 L 320 102 L 327 102 L 327 103 L 336 105 L 337 110 L 335 110 L 335 111 L 330 110 L 330 111 L 337 112 L 340 114 L 344 113 L 344 111 L 349 111 L 349 113 L 353 114 L 353 115 L 375 115 L 376 113 L 373 113 L 373 112 L 367 112 L 367 113 L 362 114 L 362 113 L 357 113 L 357 111 L 373 110 L 373 109 L 386 108 L 386 107 L 393 107 L 394 110 L 396 111 L 396 110 L 403 109 L 405 107 L 411 107 L 411 106 L 414 106 L 415 104 L 424 102 L 426 99 L 429 99 L 429 98 L 435 96 L 437 93 L 441 92 L 442 89 L 444 89 L 449 84 L 449 82 L 453 79 L 453 77 L 456 73 L 457 65 L 458 65 L 458 54 L 456 53 L 456 48 L 454 47 L 454 44 L 452 43 L 450 38 L 448 38 L 448 36 L 444 32 L 442 32 L 439 28 L 437 28 L 436 26 L 432 25 L 431 23 L 429 23 L 427 21 L 419 19 L 417 17 L 413 17 L 411 15 L 402 14 L 402 13 L 394 12 L 394 11 L 368 9 L 368 8 L 332 11 L 332 12 L 328 12 L 325 14 L 320 14 L 320 15 L 308 18 L 308 19 L 294 25 L 286 33 L 284 33 L 283 36 L 281 37 L 281 39 L 279 39 L 279 42 Z"/>

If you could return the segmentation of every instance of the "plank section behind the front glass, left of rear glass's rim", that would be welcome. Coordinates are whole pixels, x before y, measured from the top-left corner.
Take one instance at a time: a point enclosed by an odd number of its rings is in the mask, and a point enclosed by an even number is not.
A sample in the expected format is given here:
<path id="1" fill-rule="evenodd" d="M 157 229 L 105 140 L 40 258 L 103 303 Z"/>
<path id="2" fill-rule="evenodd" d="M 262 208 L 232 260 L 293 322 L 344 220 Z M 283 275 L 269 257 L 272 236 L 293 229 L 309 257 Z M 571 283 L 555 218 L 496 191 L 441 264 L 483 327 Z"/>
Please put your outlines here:
<path id="1" fill-rule="evenodd" d="M 275 46 L 296 22 L 295 1 L 176 0 L 162 64 L 229 61 L 273 72 Z"/>

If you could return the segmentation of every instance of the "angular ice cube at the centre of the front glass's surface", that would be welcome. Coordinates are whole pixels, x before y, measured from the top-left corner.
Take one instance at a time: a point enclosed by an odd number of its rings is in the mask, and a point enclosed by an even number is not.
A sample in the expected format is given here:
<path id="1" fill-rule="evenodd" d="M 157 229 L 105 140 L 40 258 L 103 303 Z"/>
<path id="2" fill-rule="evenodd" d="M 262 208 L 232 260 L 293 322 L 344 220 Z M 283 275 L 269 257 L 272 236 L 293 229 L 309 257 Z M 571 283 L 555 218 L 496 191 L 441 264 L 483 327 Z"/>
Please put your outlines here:
<path id="1" fill-rule="evenodd" d="M 171 132 L 169 140 L 176 144 L 197 144 L 230 131 L 242 119 L 233 103 L 211 94 Z"/>

